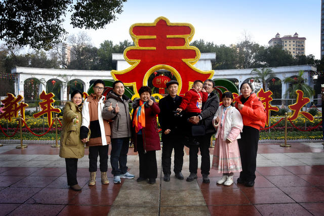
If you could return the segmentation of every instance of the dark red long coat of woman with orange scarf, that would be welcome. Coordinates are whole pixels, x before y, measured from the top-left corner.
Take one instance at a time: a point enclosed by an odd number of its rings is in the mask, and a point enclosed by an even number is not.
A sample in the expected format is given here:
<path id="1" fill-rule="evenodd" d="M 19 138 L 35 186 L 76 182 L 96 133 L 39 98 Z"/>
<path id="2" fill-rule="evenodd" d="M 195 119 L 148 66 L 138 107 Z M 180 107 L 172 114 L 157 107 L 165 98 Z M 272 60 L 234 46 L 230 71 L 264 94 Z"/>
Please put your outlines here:
<path id="1" fill-rule="evenodd" d="M 153 98 L 151 97 L 153 100 Z M 154 99 L 155 101 L 155 99 Z M 133 102 L 133 119 L 136 108 L 139 106 L 139 99 Z M 143 147 L 146 151 L 160 150 L 160 138 L 158 136 L 158 128 L 156 122 L 156 115 L 160 112 L 158 104 L 154 102 L 152 106 L 144 105 L 145 110 L 145 127 L 142 129 L 143 133 Z M 132 121 L 133 124 L 133 121 Z M 137 134 L 135 133 L 135 127 L 133 127 L 133 141 L 134 141 L 134 152 L 137 151 Z"/>

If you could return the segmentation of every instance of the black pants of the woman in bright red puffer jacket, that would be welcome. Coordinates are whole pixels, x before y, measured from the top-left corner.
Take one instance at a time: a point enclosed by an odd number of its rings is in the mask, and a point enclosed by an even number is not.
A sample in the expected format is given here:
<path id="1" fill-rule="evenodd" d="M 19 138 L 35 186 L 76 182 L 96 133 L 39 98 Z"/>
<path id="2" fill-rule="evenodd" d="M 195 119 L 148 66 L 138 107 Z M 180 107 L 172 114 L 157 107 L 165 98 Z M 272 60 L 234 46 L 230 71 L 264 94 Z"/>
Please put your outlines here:
<path id="1" fill-rule="evenodd" d="M 241 139 L 237 140 L 242 163 L 239 178 L 251 182 L 255 180 L 259 130 L 254 127 L 244 126 L 240 135 Z"/>

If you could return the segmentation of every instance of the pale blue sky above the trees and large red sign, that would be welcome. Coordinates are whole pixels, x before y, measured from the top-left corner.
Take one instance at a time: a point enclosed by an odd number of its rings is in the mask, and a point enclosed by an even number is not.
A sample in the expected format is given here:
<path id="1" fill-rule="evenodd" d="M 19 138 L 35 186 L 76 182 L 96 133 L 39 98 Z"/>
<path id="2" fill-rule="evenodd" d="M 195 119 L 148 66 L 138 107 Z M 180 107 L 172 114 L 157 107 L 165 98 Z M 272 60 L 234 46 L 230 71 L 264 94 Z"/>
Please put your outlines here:
<path id="1" fill-rule="evenodd" d="M 217 45 L 236 44 L 247 32 L 253 41 L 267 46 L 276 33 L 282 37 L 297 32 L 299 37 L 306 37 L 306 55 L 320 59 L 320 6 L 320 0 L 128 0 L 124 12 L 105 29 L 73 29 L 68 21 L 64 27 L 74 34 L 86 31 L 98 48 L 104 40 L 114 44 L 132 40 L 132 24 L 150 23 L 159 16 L 170 22 L 190 23 L 195 28 L 192 40 L 204 39 Z"/>

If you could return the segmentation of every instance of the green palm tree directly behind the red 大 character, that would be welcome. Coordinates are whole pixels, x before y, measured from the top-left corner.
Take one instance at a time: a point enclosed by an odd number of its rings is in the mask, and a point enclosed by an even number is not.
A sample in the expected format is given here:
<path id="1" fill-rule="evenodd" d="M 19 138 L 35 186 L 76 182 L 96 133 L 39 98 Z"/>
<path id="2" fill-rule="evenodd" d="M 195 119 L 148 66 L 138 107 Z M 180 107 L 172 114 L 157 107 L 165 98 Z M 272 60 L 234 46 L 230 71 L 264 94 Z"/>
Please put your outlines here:
<path id="1" fill-rule="evenodd" d="M 314 95 L 314 90 L 309 87 L 309 85 L 307 85 L 305 83 L 305 79 L 303 78 L 303 74 L 304 71 L 300 70 L 298 75 L 295 76 L 294 78 L 292 77 L 286 77 L 284 79 L 285 83 L 291 83 L 291 85 L 289 86 L 289 88 L 286 91 L 286 97 L 287 95 L 289 95 L 290 98 L 296 98 L 296 90 L 301 90 L 304 93 L 304 97 L 307 98 L 311 98 Z"/>

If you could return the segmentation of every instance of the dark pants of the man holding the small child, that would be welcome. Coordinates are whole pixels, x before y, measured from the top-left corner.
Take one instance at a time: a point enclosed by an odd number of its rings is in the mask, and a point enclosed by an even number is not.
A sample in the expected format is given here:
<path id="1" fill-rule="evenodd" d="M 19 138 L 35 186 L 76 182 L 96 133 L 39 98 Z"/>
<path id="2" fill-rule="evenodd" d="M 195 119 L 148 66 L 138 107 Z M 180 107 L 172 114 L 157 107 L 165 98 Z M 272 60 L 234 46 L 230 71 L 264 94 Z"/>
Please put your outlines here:
<path id="1" fill-rule="evenodd" d="M 189 146 L 189 171 L 197 173 L 198 169 L 198 150 L 200 149 L 201 155 L 201 174 L 209 175 L 211 168 L 211 159 L 209 156 L 209 147 L 211 145 L 211 138 L 214 133 L 206 134 L 203 137 L 198 137 L 199 145 Z"/>

